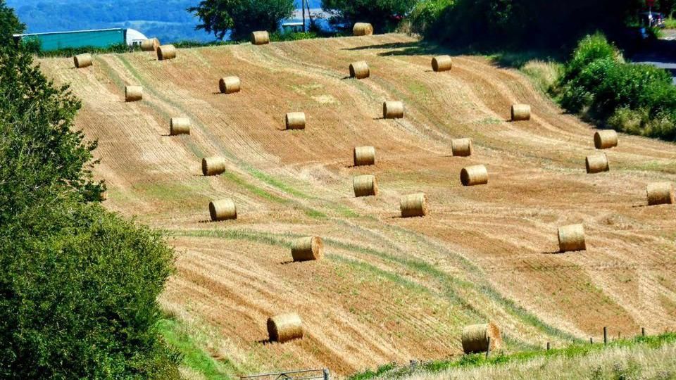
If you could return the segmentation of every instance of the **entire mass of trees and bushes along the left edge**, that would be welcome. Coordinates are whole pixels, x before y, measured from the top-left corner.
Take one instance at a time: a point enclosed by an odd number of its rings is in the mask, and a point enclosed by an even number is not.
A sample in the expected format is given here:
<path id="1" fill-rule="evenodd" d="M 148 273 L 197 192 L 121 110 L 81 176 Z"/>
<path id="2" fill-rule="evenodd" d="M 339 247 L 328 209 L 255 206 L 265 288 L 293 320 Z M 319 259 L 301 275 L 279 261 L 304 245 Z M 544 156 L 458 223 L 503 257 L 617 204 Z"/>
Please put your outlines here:
<path id="1" fill-rule="evenodd" d="M 175 378 L 155 329 L 173 251 L 95 202 L 79 108 L 30 53 L 0 46 L 0 378 Z"/>

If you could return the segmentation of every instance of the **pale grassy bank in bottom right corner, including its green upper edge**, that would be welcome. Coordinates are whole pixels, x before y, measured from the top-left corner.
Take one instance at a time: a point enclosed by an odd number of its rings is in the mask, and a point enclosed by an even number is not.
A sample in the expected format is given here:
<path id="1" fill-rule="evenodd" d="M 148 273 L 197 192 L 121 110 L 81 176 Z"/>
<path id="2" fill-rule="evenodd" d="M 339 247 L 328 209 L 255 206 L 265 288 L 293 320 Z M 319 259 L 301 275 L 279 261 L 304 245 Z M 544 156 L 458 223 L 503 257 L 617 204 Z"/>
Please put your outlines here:
<path id="1" fill-rule="evenodd" d="M 384 366 L 367 379 L 676 379 L 676 334 L 537 350 L 513 355 L 468 355 L 417 367 Z"/>

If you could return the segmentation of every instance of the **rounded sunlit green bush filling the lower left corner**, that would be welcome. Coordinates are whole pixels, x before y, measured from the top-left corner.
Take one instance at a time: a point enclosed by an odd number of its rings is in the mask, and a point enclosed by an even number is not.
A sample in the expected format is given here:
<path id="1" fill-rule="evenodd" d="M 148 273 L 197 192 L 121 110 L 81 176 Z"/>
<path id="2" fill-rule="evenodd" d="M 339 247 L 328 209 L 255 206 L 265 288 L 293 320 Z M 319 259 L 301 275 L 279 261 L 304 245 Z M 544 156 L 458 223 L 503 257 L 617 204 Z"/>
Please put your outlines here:
<path id="1" fill-rule="evenodd" d="M 155 329 L 173 251 L 145 227 L 56 194 L 0 234 L 0 377 L 176 378 L 178 357 Z"/>

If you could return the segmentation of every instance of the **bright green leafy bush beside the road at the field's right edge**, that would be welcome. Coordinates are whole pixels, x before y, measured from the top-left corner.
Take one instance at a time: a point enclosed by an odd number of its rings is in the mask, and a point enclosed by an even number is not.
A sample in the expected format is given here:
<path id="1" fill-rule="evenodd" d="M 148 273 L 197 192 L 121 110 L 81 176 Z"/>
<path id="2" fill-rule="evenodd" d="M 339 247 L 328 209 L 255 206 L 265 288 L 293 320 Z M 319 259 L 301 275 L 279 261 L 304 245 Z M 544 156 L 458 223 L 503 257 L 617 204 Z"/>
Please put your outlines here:
<path id="1" fill-rule="evenodd" d="M 585 37 L 553 93 L 572 113 L 632 134 L 676 139 L 676 87 L 669 72 L 632 65 L 602 35 Z"/>

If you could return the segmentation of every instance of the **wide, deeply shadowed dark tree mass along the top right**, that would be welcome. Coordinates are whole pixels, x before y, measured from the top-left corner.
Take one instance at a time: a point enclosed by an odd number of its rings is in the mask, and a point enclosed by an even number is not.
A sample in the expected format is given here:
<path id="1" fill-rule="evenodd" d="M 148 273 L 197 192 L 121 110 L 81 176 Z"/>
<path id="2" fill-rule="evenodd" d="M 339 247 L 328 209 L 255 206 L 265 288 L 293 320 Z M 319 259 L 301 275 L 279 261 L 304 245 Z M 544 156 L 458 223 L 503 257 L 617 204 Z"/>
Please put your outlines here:
<path id="1" fill-rule="evenodd" d="M 413 29 L 454 46 L 561 48 L 584 34 L 620 34 L 635 0 L 423 0 Z M 442 9 L 439 9 L 442 8 Z"/>

